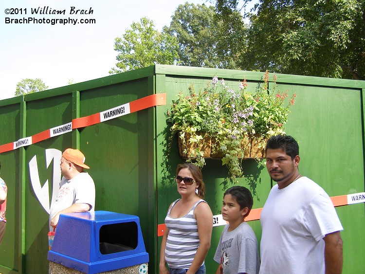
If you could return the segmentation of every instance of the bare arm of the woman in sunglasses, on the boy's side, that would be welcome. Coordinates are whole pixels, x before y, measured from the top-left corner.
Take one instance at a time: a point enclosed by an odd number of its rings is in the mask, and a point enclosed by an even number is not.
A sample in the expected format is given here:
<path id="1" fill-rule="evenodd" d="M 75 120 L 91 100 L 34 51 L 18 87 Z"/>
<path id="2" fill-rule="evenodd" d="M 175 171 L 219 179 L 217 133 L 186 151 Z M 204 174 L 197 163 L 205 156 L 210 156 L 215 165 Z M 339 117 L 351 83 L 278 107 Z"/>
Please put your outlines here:
<path id="1" fill-rule="evenodd" d="M 187 274 L 195 274 L 201 267 L 209 248 L 210 240 L 213 230 L 213 214 L 209 205 L 206 202 L 201 202 L 194 210 L 195 218 L 197 219 L 198 234 L 200 245 L 197 249 L 197 253 L 194 256 L 193 263 L 190 265 Z"/>

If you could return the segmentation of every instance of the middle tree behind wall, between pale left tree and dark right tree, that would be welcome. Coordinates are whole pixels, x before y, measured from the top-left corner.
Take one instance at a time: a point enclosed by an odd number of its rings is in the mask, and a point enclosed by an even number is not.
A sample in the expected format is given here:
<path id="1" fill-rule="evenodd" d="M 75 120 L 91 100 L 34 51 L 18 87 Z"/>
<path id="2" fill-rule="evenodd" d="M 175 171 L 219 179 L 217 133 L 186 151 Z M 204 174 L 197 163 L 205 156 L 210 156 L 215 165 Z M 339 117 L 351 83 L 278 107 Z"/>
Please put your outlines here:
<path id="1" fill-rule="evenodd" d="M 236 59 L 244 50 L 246 26 L 239 13 L 229 24 L 216 16 L 213 6 L 179 5 L 164 32 L 177 37 L 179 64 L 195 67 L 237 69 Z M 228 22 L 228 21 L 227 21 Z M 243 38 L 243 39 L 242 39 Z"/>

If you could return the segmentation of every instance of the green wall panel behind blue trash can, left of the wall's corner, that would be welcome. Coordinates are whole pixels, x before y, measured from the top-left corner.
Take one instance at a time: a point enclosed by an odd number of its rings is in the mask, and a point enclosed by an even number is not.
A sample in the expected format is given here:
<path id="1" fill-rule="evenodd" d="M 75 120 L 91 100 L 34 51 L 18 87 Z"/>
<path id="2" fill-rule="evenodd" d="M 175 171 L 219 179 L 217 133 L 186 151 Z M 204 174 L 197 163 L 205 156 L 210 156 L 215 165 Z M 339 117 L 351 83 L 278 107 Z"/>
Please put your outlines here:
<path id="1" fill-rule="evenodd" d="M 143 78 L 82 92 L 80 117 L 150 95 L 152 85 Z M 140 110 L 80 130 L 80 149 L 95 182 L 95 209 L 139 216 L 150 269 L 156 227 L 154 112 L 154 108 Z"/>

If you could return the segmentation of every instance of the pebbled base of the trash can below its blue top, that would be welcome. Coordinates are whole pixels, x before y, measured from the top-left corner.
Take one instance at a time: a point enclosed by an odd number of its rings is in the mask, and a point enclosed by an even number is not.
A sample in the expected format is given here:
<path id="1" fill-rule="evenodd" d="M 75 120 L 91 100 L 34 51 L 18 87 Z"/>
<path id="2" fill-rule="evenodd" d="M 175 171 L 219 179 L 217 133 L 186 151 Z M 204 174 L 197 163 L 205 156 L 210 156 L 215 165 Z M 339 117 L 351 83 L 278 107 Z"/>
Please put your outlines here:
<path id="1" fill-rule="evenodd" d="M 107 272 L 101 272 L 100 274 L 148 274 L 147 268 L 148 263 L 144 263 Z M 50 261 L 49 274 L 83 274 L 83 272 Z"/>

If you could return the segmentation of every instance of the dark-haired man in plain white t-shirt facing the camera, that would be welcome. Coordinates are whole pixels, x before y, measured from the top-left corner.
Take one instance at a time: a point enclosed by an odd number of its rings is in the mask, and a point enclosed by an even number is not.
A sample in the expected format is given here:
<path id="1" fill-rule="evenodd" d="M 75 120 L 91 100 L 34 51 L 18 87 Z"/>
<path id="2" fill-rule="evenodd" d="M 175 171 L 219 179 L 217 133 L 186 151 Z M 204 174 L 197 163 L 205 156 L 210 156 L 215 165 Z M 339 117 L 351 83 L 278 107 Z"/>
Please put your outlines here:
<path id="1" fill-rule="evenodd" d="M 291 136 L 268 140 L 266 166 L 277 184 L 260 216 L 260 274 L 341 273 L 341 222 L 322 187 L 299 174 L 299 160 Z"/>

